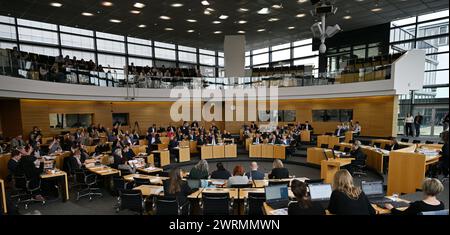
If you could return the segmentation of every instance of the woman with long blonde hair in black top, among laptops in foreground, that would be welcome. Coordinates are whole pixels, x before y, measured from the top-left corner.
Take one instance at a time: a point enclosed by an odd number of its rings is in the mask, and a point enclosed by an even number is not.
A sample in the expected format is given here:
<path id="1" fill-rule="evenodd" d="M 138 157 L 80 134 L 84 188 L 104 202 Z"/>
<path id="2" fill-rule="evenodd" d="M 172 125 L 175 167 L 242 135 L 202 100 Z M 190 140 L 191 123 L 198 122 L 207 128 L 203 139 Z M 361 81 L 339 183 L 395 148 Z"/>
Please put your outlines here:
<path id="1" fill-rule="evenodd" d="M 375 209 L 364 192 L 353 184 L 347 170 L 336 172 L 328 211 L 336 215 L 374 215 Z"/>

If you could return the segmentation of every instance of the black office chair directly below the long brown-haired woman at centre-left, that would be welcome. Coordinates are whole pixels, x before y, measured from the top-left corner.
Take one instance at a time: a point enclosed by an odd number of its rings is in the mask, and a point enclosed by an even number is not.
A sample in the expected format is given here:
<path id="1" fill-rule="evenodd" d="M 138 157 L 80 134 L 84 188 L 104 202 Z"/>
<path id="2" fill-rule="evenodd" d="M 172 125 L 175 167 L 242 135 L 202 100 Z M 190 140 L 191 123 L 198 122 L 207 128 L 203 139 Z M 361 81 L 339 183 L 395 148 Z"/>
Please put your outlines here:
<path id="1" fill-rule="evenodd" d="M 153 202 L 156 215 L 189 215 L 191 204 L 187 200 L 179 204 L 176 197 L 157 196 Z"/>

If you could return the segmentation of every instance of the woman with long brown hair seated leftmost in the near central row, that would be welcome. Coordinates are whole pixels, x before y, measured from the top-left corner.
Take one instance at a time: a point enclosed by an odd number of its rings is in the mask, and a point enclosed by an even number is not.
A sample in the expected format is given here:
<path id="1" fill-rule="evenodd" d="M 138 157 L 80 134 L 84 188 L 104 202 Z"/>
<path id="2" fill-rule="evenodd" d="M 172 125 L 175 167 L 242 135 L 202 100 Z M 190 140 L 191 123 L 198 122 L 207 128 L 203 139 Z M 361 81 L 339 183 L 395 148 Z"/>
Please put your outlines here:
<path id="1" fill-rule="evenodd" d="M 183 180 L 180 168 L 174 168 L 169 173 L 169 179 L 164 180 L 164 196 L 176 197 L 178 204 L 183 205 L 188 201 L 187 196 L 192 193 L 186 181 Z"/>

